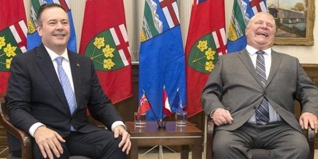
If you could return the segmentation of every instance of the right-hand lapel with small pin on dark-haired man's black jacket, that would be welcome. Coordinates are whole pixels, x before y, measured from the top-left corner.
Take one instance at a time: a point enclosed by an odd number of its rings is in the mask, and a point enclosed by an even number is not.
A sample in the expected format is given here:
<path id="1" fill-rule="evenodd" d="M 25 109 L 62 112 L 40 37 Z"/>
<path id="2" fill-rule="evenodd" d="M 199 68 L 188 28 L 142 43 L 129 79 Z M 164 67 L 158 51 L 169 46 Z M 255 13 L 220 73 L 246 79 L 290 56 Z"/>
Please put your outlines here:
<path id="1" fill-rule="evenodd" d="M 78 103 L 81 103 L 81 91 L 82 90 L 82 78 L 81 78 L 81 66 L 79 62 L 79 56 L 68 49 L 68 55 L 69 55 L 69 60 L 70 60 L 70 65 L 71 65 L 71 71 L 72 71 L 72 77 L 73 77 L 73 84 L 74 84 L 74 91 L 75 91 L 75 97 L 76 97 L 76 103 L 77 107 L 79 107 Z M 75 110 L 75 112 L 78 109 Z M 75 114 L 75 113 L 74 113 Z"/>

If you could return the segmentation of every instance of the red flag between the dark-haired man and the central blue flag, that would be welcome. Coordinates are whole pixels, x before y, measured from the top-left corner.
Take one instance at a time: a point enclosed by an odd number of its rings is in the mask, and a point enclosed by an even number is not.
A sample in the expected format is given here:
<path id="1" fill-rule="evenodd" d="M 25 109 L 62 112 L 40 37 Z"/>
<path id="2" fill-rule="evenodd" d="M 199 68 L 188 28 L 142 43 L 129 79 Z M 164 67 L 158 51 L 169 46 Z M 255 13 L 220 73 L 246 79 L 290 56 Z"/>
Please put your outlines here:
<path id="1" fill-rule="evenodd" d="M 100 85 L 113 103 L 133 95 L 122 0 L 86 1 L 79 52 L 93 61 Z"/>

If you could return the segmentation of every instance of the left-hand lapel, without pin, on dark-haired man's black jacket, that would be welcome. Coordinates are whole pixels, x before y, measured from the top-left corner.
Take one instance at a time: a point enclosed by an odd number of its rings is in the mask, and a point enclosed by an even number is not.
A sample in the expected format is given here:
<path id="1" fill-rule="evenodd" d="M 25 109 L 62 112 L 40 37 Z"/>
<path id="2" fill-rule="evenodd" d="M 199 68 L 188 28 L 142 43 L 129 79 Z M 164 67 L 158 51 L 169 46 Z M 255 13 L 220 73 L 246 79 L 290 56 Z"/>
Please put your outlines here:
<path id="1" fill-rule="evenodd" d="M 59 77 L 43 44 L 37 48 L 36 63 L 63 105 L 68 105 Z M 63 110 L 62 112 L 70 112 L 68 107 L 64 107 L 63 109 L 66 109 L 66 111 Z"/>

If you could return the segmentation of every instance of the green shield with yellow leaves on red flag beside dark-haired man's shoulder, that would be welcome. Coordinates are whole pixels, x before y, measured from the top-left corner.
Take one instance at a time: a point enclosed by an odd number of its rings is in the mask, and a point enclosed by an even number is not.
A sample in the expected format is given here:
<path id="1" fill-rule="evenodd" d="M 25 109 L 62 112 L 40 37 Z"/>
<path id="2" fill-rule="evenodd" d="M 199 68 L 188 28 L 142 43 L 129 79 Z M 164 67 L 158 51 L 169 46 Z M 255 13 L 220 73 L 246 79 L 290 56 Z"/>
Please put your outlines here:
<path id="1" fill-rule="evenodd" d="M 104 30 L 91 39 L 85 49 L 95 69 L 114 71 L 130 65 L 128 36 L 124 24 Z"/>

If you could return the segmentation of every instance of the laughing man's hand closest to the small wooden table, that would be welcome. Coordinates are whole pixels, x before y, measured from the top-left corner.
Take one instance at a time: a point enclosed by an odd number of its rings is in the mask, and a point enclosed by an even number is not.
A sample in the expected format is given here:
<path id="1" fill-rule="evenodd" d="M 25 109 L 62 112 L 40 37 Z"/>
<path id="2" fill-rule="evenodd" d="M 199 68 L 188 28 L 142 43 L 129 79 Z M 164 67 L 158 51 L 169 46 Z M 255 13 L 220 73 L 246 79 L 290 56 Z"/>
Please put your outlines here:
<path id="1" fill-rule="evenodd" d="M 233 118 L 229 111 L 225 109 L 217 109 L 212 113 L 213 121 L 217 126 L 224 124 L 232 124 Z"/>

